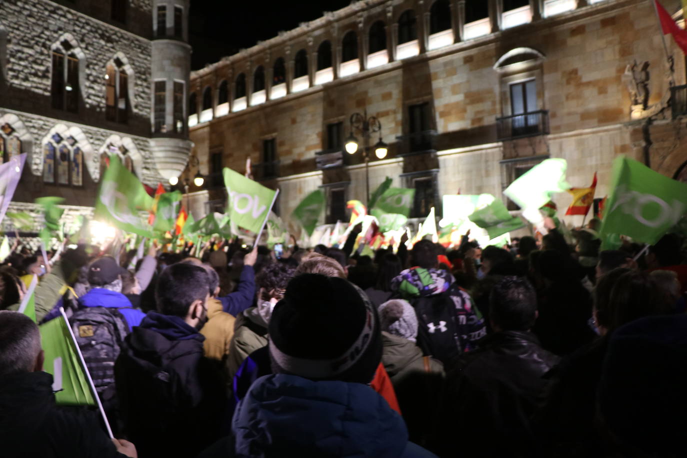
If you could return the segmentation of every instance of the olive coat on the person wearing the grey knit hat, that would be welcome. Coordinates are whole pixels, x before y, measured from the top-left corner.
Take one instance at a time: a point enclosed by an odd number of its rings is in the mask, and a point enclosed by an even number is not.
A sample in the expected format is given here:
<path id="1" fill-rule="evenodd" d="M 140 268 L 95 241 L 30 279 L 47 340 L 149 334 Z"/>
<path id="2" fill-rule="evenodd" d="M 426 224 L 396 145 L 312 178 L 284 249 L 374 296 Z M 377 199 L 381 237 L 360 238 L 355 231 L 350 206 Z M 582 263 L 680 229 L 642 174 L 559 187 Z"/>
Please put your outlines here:
<path id="1" fill-rule="evenodd" d="M 438 413 L 444 365 L 423 356 L 414 342 L 403 337 L 382 332 L 382 341 L 382 363 L 394 386 L 410 440 L 423 445 L 432 427 L 427 419 Z"/>

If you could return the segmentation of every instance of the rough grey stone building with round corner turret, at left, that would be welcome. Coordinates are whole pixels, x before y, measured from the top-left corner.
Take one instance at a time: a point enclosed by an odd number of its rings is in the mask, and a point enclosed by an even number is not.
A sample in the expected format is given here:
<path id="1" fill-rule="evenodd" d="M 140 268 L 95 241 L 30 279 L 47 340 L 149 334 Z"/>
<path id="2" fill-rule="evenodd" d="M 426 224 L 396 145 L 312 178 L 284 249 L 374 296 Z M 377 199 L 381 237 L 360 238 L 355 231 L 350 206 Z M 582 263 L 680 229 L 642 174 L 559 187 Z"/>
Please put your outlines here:
<path id="1" fill-rule="evenodd" d="M 67 219 L 90 214 L 107 154 L 151 186 L 179 175 L 191 150 L 188 8 L 0 2 L 0 150 L 3 161 L 28 153 L 11 208 L 61 196 Z"/>

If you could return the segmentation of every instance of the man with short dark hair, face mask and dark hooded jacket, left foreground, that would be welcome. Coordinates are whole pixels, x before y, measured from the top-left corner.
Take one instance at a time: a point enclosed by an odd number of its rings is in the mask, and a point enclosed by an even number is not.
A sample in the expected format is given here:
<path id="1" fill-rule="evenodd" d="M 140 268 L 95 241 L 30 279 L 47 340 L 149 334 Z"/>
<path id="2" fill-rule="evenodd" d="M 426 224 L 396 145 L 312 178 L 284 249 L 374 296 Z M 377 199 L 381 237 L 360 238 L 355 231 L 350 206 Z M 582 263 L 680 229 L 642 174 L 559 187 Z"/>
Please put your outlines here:
<path id="1" fill-rule="evenodd" d="M 210 277 L 201 266 L 172 264 L 159 275 L 155 295 L 157 312 L 126 336 L 115 364 L 122 420 L 142 456 L 192 457 L 219 437 L 227 407 L 199 332 Z"/>

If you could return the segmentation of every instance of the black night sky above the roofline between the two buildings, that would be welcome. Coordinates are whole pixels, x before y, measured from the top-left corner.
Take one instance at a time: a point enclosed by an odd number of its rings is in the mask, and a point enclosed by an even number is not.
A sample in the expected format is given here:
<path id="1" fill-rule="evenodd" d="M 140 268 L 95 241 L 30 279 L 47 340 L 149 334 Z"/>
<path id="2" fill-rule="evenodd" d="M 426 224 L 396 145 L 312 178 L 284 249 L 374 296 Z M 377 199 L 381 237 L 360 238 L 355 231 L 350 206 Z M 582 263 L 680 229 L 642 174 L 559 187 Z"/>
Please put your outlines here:
<path id="1" fill-rule="evenodd" d="M 191 68 L 201 69 L 259 40 L 273 38 L 280 30 L 294 29 L 302 22 L 321 17 L 323 11 L 336 11 L 350 3 L 351 0 L 192 0 Z"/>

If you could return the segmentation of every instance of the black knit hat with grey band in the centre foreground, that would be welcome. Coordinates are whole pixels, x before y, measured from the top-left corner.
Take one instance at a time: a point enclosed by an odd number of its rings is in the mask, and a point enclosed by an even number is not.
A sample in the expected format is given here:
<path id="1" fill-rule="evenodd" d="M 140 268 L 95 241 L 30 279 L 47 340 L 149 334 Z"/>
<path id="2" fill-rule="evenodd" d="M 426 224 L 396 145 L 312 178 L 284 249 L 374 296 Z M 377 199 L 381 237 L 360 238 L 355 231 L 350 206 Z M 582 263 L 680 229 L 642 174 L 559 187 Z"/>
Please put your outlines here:
<path id="1" fill-rule="evenodd" d="M 269 321 L 273 370 L 311 380 L 370 383 L 382 354 L 376 310 L 346 279 L 299 275 Z"/>

